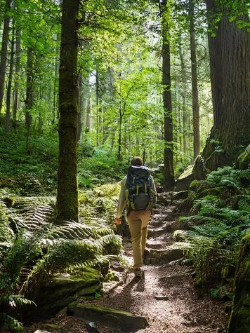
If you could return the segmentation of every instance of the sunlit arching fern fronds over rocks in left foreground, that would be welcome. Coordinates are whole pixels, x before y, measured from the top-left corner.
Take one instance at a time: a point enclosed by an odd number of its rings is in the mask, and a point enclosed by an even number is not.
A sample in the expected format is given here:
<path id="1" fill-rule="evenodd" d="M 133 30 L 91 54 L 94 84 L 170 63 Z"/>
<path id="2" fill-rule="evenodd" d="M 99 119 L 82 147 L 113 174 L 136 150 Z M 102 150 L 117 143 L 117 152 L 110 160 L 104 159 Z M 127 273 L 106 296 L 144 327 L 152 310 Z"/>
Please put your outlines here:
<path id="1" fill-rule="evenodd" d="M 102 193 L 113 196 L 116 188 L 103 186 Z M 34 300 L 55 273 L 81 276 L 91 267 L 109 267 L 110 261 L 119 259 L 121 238 L 114 235 L 105 219 L 97 217 L 88 223 L 53 224 L 55 198 L 15 196 L 8 202 L 12 205 L 8 215 L 1 205 L 3 221 L 6 226 L 11 221 L 16 236 L 8 240 L 8 246 L 3 245 L 0 256 L 0 308 L 6 314 L 1 325 L 18 329 L 21 324 L 17 318 L 24 306 L 34 306 L 28 299 Z"/>

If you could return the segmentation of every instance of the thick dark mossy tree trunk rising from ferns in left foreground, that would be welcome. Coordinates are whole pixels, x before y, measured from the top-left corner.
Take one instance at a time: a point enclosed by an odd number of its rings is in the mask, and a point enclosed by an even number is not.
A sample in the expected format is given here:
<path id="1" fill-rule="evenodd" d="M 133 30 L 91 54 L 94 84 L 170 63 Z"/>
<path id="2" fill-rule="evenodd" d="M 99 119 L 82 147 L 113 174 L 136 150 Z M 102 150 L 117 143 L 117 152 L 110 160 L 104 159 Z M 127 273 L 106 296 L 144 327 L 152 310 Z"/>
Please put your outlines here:
<path id="1" fill-rule="evenodd" d="M 77 120 L 77 15 L 79 0 L 62 1 L 62 32 L 59 68 L 59 156 L 56 219 L 78 221 Z"/>

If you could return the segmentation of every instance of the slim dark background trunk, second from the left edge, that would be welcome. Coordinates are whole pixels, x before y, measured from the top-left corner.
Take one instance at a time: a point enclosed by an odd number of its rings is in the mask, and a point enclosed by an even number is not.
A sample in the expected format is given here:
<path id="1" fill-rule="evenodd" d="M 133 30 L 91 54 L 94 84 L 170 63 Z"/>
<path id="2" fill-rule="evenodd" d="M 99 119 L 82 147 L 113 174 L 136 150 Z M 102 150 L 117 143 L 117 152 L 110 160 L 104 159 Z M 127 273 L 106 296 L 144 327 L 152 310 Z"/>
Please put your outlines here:
<path id="1" fill-rule="evenodd" d="M 20 79 L 20 54 L 21 54 L 21 30 L 16 31 L 16 41 L 15 41 L 15 90 L 14 90 L 14 100 L 13 100 L 13 128 L 16 130 L 16 115 L 18 111 L 18 89 L 19 89 L 19 79 Z"/>

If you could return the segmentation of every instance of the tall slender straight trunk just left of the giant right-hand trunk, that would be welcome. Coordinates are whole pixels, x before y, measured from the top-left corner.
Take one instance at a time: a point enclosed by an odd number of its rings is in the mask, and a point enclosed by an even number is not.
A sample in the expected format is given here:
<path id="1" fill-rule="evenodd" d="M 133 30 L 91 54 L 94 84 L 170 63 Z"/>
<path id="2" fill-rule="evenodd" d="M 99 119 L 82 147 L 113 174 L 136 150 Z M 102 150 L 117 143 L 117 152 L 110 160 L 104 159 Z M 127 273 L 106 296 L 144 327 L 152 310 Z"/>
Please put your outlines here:
<path id="1" fill-rule="evenodd" d="M 195 13 L 194 3 L 189 3 L 190 16 L 190 50 L 191 50 L 191 73 L 192 73 L 192 128 L 194 133 L 194 158 L 199 155 L 199 97 L 197 83 L 197 62 L 195 46 Z"/>

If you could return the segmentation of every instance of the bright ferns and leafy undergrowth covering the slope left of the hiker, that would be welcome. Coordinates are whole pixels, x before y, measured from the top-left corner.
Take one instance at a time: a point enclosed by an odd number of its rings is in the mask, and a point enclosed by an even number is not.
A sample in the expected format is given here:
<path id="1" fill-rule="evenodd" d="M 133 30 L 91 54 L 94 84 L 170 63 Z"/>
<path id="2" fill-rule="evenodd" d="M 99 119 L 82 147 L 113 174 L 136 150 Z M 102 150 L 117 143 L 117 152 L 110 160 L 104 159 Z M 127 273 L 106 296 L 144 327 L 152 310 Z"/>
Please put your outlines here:
<path id="1" fill-rule="evenodd" d="M 110 262 L 124 260 L 112 220 L 126 163 L 79 147 L 79 223 L 56 225 L 57 135 L 31 133 L 29 147 L 25 135 L 0 128 L 0 329 L 22 329 L 22 312 L 55 274 L 95 269 L 104 279 Z"/>

